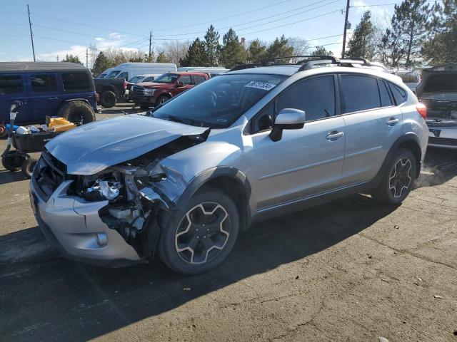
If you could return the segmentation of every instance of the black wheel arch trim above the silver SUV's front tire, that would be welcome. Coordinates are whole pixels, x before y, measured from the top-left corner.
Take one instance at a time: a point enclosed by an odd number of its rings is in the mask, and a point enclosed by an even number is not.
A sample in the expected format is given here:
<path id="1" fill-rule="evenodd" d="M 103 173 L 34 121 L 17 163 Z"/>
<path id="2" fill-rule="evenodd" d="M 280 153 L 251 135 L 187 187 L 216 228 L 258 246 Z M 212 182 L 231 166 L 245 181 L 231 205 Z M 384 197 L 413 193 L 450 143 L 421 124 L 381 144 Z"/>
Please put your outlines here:
<path id="1" fill-rule="evenodd" d="M 213 178 L 206 182 L 203 186 L 209 185 L 216 187 L 221 191 L 224 191 L 227 195 L 233 199 L 238 213 L 240 214 L 240 227 L 241 229 L 247 229 L 248 227 L 248 199 L 246 197 L 246 191 L 238 180 L 229 176 L 220 176 Z"/>

